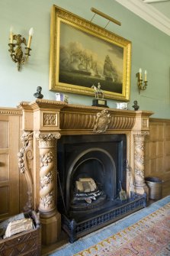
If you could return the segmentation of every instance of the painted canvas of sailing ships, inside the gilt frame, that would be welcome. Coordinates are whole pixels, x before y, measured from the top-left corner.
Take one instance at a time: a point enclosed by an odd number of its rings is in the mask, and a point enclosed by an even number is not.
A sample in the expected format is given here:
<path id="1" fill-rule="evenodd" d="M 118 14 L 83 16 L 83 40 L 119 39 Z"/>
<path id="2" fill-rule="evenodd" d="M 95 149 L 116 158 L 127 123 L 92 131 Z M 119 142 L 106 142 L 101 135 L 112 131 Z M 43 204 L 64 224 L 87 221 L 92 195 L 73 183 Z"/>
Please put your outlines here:
<path id="1" fill-rule="evenodd" d="M 61 23 L 59 83 L 122 93 L 123 47 Z"/>

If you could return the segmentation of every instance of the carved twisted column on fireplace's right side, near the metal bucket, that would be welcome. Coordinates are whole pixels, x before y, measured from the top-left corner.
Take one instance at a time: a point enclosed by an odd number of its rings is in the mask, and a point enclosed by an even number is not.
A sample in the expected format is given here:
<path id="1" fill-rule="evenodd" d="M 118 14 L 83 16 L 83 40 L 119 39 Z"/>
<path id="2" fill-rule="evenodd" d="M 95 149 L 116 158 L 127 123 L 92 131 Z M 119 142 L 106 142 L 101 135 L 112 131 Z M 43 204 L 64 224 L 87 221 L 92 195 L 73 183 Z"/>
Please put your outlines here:
<path id="1" fill-rule="evenodd" d="M 134 134 L 134 146 L 135 146 L 135 188 L 136 193 L 147 193 L 147 186 L 145 183 L 145 162 L 144 162 L 144 140 L 145 136 L 149 134 L 149 131 L 142 131 Z"/>

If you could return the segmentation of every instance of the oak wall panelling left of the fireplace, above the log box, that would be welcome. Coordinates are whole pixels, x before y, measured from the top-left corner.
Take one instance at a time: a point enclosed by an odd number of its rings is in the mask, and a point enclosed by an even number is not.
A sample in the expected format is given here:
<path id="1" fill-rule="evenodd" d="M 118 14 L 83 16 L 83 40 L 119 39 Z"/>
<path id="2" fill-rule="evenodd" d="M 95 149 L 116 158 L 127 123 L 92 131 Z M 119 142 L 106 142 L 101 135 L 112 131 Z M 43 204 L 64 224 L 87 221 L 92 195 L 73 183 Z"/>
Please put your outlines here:
<path id="1" fill-rule="evenodd" d="M 19 116 L 0 115 L 0 219 L 19 212 Z"/>

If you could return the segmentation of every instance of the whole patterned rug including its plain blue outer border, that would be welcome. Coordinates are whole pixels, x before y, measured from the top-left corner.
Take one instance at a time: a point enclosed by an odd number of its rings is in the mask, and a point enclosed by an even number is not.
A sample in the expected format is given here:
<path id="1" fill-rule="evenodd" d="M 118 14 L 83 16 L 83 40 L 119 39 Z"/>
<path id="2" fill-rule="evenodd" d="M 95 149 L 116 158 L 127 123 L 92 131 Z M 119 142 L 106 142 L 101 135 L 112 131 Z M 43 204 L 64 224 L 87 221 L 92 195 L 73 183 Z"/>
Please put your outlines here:
<path id="1" fill-rule="evenodd" d="M 170 196 L 48 255 L 170 256 Z"/>

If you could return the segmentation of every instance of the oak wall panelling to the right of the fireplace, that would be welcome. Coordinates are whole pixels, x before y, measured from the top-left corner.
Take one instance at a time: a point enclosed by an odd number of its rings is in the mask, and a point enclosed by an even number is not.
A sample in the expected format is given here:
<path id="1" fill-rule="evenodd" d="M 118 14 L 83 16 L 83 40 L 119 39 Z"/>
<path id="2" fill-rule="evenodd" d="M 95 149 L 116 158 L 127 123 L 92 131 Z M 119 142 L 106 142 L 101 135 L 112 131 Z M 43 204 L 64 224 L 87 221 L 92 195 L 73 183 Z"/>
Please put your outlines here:
<path id="1" fill-rule="evenodd" d="M 149 119 L 145 146 L 145 176 L 170 180 L 170 120 Z"/>

